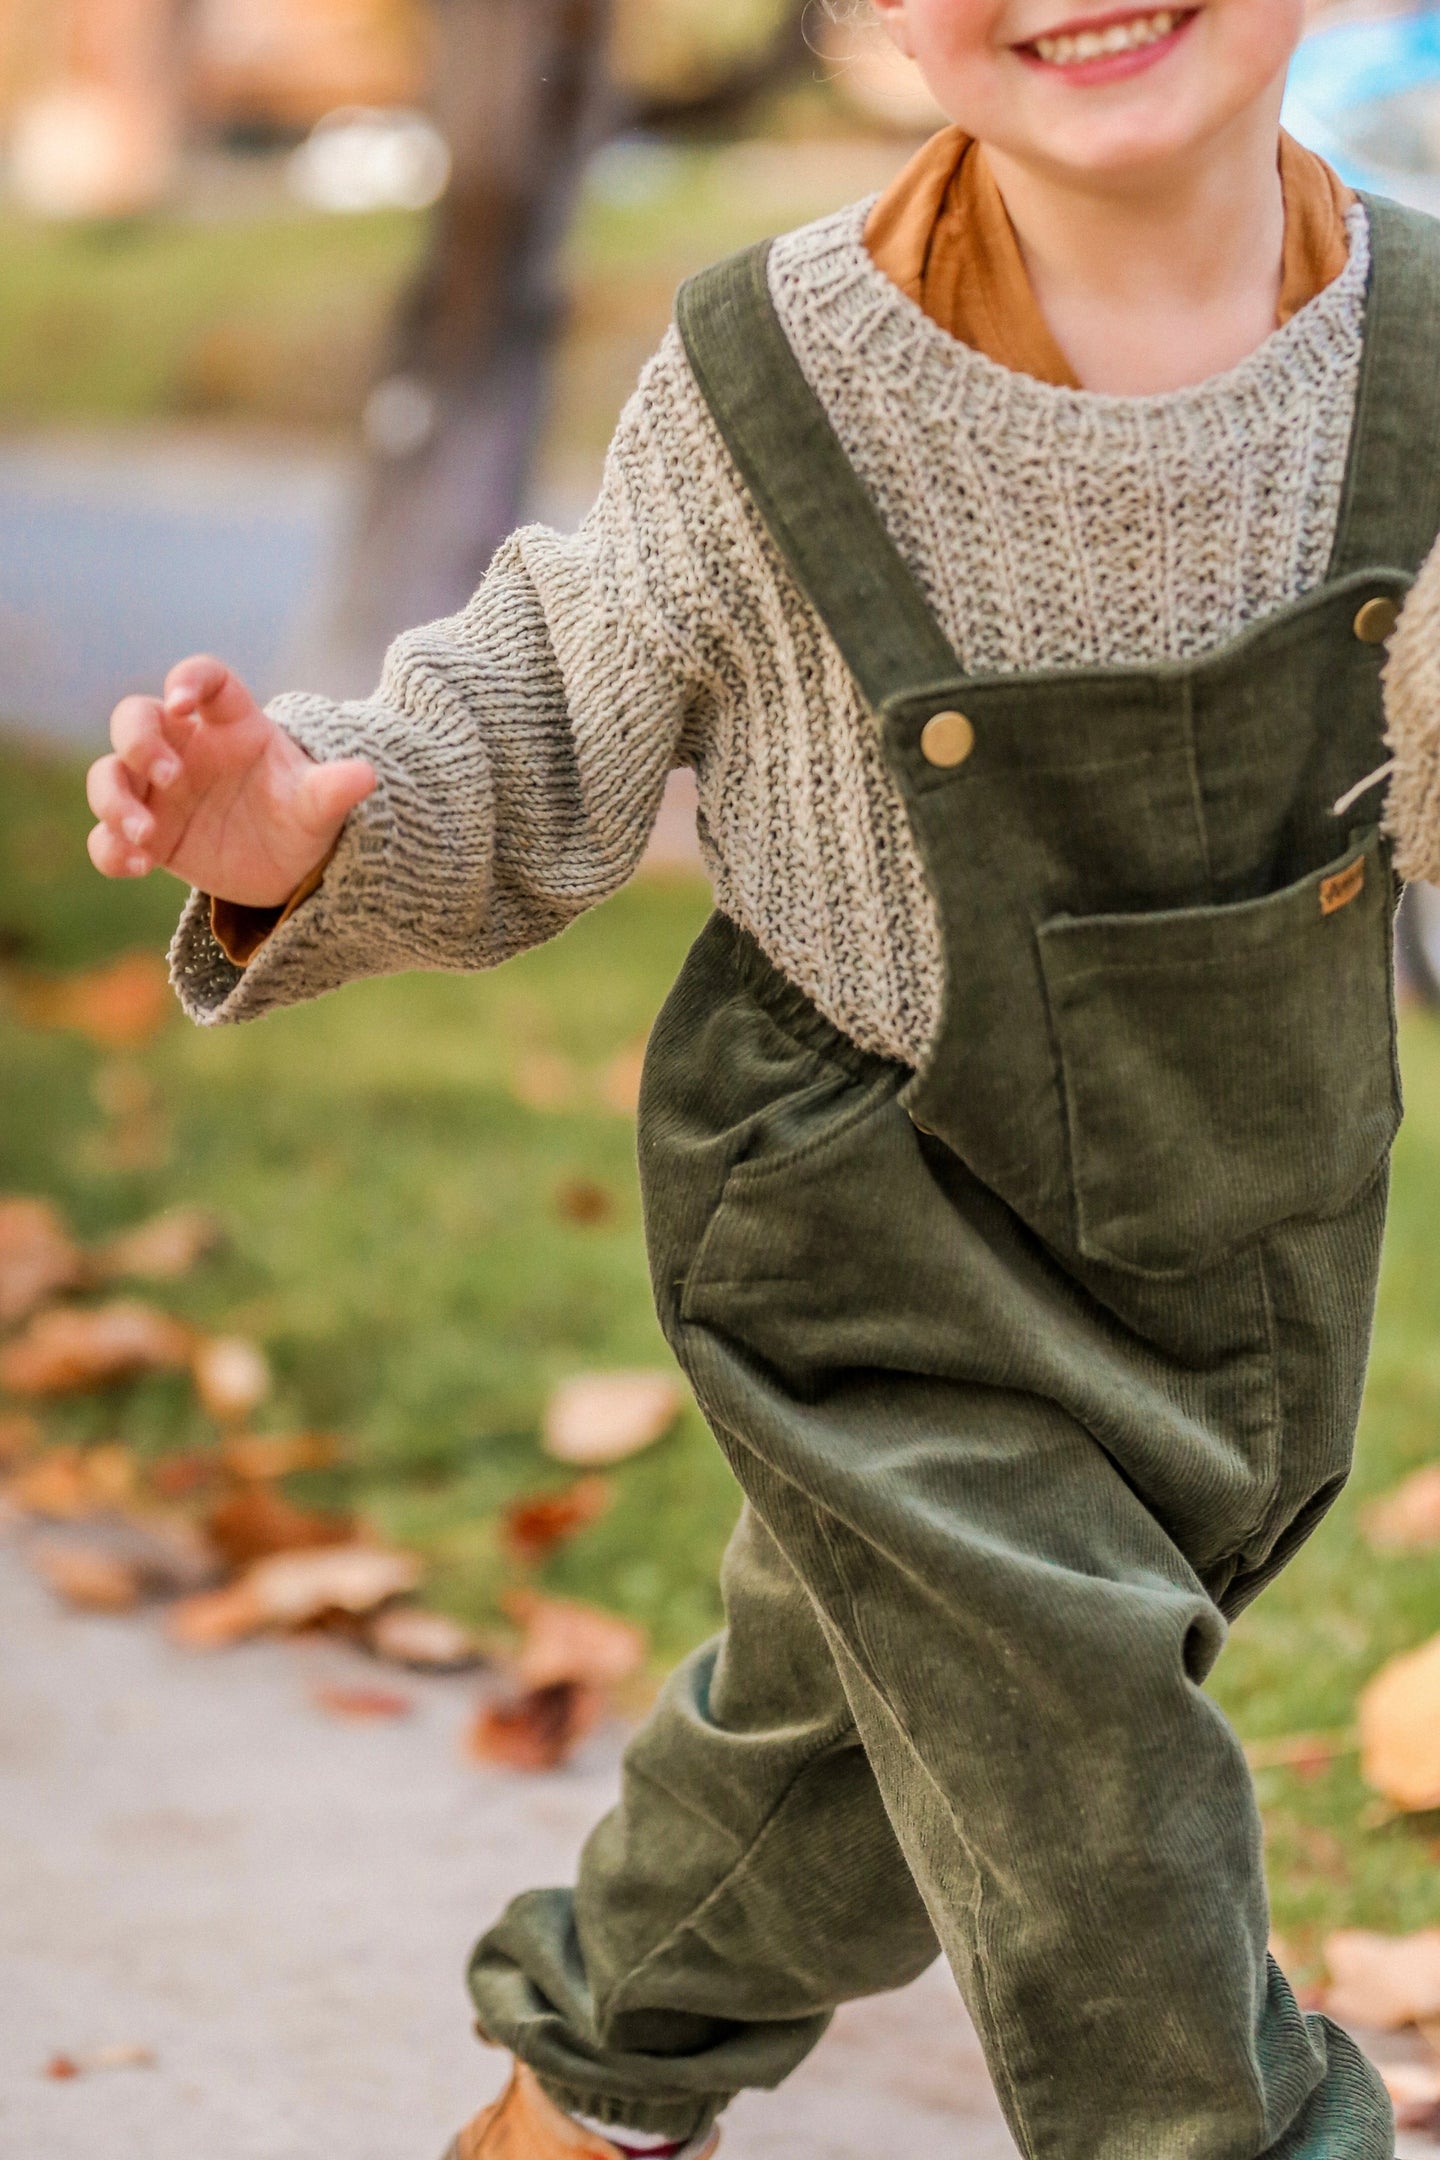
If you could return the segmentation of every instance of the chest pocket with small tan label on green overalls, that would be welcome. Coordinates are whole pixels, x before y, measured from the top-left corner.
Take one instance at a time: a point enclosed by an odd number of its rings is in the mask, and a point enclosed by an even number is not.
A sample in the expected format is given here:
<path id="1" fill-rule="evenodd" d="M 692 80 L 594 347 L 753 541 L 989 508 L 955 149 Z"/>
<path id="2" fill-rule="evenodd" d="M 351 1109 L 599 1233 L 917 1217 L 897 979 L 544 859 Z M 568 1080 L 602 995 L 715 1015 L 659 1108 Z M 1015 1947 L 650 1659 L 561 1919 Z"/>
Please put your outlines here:
<path id="1" fill-rule="evenodd" d="M 1194 1274 L 1377 1175 L 1401 1115 L 1390 922 L 1371 832 L 1263 899 L 1041 924 L 1079 1253 Z"/>

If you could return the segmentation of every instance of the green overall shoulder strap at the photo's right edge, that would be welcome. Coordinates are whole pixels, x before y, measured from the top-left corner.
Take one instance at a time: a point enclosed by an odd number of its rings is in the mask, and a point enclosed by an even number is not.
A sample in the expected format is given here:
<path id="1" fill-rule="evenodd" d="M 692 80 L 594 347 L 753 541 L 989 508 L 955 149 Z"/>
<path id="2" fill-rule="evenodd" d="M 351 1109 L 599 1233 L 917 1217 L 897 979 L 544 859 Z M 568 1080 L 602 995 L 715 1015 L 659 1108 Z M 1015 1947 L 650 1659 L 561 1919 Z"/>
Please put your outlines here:
<path id="1" fill-rule="evenodd" d="M 1440 529 L 1440 222 L 1362 201 L 1371 283 L 1332 577 L 1414 572 Z"/>

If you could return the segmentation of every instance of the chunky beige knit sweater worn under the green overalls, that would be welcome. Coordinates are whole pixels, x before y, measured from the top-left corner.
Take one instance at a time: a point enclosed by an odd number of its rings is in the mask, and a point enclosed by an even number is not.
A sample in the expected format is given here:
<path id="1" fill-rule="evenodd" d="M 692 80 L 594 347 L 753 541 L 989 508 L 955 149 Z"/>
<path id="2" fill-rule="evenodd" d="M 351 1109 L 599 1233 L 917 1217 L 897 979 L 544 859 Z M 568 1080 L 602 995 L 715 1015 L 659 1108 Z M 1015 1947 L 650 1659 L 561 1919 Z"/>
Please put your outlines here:
<path id="1" fill-rule="evenodd" d="M 1323 579 L 1360 207 L 1332 285 L 1239 367 L 1166 397 L 1054 389 L 956 343 L 874 268 L 866 210 L 779 240 L 771 287 L 967 672 L 1185 659 Z M 313 756 L 371 758 L 380 786 L 248 968 L 192 896 L 173 968 L 194 1020 L 488 968 L 555 935 L 635 870 L 665 775 L 693 765 L 719 907 L 857 1043 L 924 1058 L 941 950 L 905 806 L 674 330 L 579 534 L 516 534 L 460 616 L 393 646 L 371 700 L 272 713 Z"/>

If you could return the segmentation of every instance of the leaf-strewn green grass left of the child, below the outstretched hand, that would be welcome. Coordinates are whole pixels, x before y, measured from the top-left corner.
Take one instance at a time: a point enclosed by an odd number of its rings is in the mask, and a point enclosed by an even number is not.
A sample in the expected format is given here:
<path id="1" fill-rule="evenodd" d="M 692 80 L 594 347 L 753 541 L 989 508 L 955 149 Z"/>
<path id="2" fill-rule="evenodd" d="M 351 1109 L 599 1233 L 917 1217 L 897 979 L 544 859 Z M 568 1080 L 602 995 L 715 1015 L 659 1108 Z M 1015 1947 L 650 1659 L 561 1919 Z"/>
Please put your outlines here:
<path id="1" fill-rule="evenodd" d="M 179 888 L 99 881 L 73 767 L 9 752 L 0 804 L 0 927 L 26 968 L 164 944 Z M 259 1337 L 279 1376 L 263 1421 L 350 1441 L 339 1486 L 311 1480 L 313 1495 L 358 1503 L 432 1560 L 438 1603 L 490 1618 L 512 1579 L 497 1508 L 568 1482 L 538 1445 L 551 1385 L 669 1365 L 633 1121 L 600 1082 L 646 1035 L 706 905 L 699 883 L 643 881 L 499 974 L 365 983 L 235 1030 L 177 1017 L 123 1058 L 0 1007 L 0 1190 L 54 1197 L 84 1236 L 179 1199 L 218 1210 L 227 1253 L 164 1302 Z M 572 1106 L 516 1099 L 538 1054 L 570 1063 Z M 117 1119 L 136 1080 L 153 1102 Z M 604 1186 L 609 1220 L 566 1216 L 576 1177 Z M 50 1423 L 140 1454 L 207 1439 L 168 1380 Z M 613 1484 L 611 1512 L 544 1581 L 635 1616 L 671 1659 L 717 1620 L 730 1473 L 691 1410 Z"/>

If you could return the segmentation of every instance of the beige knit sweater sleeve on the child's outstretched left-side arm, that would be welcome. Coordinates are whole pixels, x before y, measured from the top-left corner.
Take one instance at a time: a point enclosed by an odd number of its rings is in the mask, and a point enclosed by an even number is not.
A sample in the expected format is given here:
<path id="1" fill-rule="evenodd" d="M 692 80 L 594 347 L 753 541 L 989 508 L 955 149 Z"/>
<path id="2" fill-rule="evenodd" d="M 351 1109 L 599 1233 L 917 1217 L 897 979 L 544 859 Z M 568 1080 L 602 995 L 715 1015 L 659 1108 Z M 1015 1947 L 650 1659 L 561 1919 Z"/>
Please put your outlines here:
<path id="1" fill-rule="evenodd" d="M 186 1013 L 253 1020 L 408 968 L 492 968 L 635 870 L 697 696 L 695 609 L 674 536 L 693 387 L 671 330 L 622 415 L 572 536 L 518 531 L 458 613 L 399 637 L 373 698 L 283 696 L 315 758 L 365 756 L 317 890 L 240 968 L 192 892 L 171 946 Z"/>

